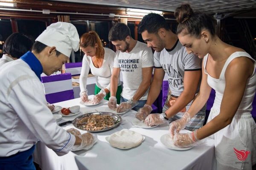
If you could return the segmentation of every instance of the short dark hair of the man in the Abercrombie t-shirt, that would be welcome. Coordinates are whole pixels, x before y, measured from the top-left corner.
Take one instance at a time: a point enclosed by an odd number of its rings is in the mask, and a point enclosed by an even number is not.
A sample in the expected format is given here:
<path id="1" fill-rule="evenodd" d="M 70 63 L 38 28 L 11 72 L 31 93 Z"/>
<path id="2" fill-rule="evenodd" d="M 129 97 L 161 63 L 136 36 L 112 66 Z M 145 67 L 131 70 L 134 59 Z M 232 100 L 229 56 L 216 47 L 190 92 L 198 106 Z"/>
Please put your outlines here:
<path id="1" fill-rule="evenodd" d="M 112 26 L 112 28 L 108 33 L 108 40 L 109 41 L 116 41 L 116 40 L 125 41 L 125 38 L 127 36 L 131 37 L 130 28 L 124 23 L 116 23 L 114 26 Z"/>

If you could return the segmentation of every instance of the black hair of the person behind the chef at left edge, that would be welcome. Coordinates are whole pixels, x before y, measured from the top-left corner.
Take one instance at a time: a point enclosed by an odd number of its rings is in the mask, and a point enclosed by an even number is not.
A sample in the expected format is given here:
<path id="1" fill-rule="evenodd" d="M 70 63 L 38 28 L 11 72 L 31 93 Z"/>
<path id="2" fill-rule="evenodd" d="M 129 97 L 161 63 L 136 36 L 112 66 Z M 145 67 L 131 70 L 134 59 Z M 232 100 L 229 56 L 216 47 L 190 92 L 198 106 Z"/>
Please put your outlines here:
<path id="1" fill-rule="evenodd" d="M 3 44 L 3 54 L 19 59 L 33 46 L 32 40 L 20 33 L 11 34 Z"/>

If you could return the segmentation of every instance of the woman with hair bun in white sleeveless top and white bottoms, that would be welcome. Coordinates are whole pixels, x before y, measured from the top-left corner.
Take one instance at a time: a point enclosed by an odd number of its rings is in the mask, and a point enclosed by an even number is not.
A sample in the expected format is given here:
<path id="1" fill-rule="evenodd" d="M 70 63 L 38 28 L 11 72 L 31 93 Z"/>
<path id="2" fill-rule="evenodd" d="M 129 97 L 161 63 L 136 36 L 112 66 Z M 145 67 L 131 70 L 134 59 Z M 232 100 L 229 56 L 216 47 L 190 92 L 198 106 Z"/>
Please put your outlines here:
<path id="1" fill-rule="evenodd" d="M 215 141 L 218 170 L 251 170 L 256 164 L 256 124 L 251 116 L 256 89 L 256 61 L 243 49 L 228 45 L 216 35 L 216 20 L 194 12 L 189 4 L 175 10 L 177 35 L 188 53 L 202 62 L 202 82 L 188 114 L 169 127 L 178 147 L 197 145 L 211 136 Z M 179 131 L 207 102 L 215 101 L 207 124 L 192 133 Z"/>

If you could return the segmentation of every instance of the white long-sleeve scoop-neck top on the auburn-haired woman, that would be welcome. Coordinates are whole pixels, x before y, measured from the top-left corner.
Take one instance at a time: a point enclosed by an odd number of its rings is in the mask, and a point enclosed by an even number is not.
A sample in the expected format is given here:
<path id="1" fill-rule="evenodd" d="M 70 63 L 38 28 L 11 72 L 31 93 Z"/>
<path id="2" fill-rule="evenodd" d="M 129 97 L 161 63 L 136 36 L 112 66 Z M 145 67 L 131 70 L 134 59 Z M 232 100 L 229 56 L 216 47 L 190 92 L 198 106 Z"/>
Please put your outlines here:
<path id="1" fill-rule="evenodd" d="M 81 92 L 86 91 L 87 77 L 90 70 L 96 78 L 96 85 L 101 89 L 107 88 L 110 91 L 110 80 L 113 70 L 115 52 L 109 48 L 104 48 L 104 51 L 105 54 L 103 64 L 100 68 L 96 68 L 94 66 L 90 56 L 84 55 L 79 79 Z M 118 85 L 121 85 L 120 79 L 118 79 Z"/>

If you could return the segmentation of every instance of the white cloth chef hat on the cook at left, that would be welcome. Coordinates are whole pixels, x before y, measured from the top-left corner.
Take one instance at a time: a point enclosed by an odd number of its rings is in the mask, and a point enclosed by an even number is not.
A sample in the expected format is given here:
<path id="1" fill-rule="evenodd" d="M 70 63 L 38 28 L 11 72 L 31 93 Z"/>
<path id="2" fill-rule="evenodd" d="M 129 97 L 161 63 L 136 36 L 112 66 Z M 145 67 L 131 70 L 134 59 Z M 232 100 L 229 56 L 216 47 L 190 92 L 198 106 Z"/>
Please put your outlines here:
<path id="1" fill-rule="evenodd" d="M 70 57 L 72 49 L 79 49 L 79 35 L 76 27 L 71 23 L 53 23 L 40 34 L 35 41 L 42 42 L 49 47 L 56 47 L 56 50 Z"/>

